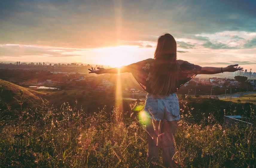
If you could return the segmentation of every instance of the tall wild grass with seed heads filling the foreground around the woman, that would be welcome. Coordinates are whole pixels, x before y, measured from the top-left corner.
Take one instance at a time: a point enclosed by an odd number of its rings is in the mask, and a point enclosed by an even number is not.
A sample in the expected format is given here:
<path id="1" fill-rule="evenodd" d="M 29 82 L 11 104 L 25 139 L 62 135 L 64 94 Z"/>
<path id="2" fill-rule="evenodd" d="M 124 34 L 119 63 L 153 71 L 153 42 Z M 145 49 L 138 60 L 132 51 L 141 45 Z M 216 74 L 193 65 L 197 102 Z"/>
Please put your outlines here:
<path id="1" fill-rule="evenodd" d="M 132 108 L 140 109 L 136 107 Z M 192 123 L 191 108 L 186 104 L 181 108 L 182 119 L 174 136 L 175 167 L 254 167 L 253 127 L 225 127 L 213 116 L 204 119 L 207 124 Z M 21 108 L 18 117 L 1 116 L 0 165 L 147 167 L 145 126 L 134 115 L 131 110 L 121 118 L 118 108 L 111 114 L 104 108 L 86 114 L 67 102 L 60 108 L 47 101 L 36 109 Z M 158 162 L 161 167 L 161 157 Z"/>

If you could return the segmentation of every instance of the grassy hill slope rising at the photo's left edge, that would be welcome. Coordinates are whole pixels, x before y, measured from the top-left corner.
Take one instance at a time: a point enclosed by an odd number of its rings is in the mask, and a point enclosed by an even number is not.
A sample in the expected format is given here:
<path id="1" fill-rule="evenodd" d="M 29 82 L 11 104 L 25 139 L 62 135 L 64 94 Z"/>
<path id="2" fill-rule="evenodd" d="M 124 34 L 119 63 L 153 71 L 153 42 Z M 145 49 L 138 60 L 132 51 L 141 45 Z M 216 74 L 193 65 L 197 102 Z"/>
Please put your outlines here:
<path id="1" fill-rule="evenodd" d="M 33 91 L 1 79 L 0 85 L 0 109 L 2 110 L 19 108 L 19 104 L 15 98 L 20 99 L 20 91 L 23 92 L 22 98 L 25 99 L 23 107 L 40 104 L 42 102 L 40 97 L 46 95 L 45 93 Z"/>

